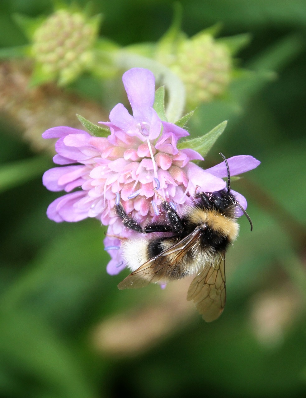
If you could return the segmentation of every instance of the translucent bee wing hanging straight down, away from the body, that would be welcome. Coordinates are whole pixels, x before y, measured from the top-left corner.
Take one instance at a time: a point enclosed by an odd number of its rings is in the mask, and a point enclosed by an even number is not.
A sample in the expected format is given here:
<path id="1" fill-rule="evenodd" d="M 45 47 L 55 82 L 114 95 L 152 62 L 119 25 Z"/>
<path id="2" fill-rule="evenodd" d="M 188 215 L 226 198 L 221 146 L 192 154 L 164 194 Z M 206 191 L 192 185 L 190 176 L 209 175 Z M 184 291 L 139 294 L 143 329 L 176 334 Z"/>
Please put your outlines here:
<path id="1" fill-rule="evenodd" d="M 226 301 L 225 252 L 208 263 L 193 279 L 187 293 L 187 300 L 193 300 L 196 309 L 206 322 L 219 318 Z"/>

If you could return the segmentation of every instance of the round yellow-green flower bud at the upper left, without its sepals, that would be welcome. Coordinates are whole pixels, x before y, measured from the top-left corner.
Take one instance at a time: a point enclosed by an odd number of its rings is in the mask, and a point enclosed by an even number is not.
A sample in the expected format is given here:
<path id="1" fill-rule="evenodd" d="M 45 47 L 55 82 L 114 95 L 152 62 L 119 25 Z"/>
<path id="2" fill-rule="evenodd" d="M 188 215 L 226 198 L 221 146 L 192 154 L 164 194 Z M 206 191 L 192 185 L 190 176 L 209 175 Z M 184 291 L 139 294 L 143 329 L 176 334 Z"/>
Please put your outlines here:
<path id="1" fill-rule="evenodd" d="M 40 80 L 58 79 L 65 85 L 92 64 L 98 19 L 81 12 L 58 10 L 34 32 L 31 54 L 39 66 Z"/>

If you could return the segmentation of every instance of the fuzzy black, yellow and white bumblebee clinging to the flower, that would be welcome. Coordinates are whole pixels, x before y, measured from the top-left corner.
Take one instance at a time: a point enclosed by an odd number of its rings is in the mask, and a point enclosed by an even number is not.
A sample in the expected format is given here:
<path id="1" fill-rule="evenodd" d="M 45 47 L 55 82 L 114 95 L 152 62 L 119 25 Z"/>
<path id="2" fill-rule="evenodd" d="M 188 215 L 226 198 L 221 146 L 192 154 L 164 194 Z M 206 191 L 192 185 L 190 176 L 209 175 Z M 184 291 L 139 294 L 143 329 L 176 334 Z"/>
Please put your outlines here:
<path id="1" fill-rule="evenodd" d="M 227 187 L 215 192 L 196 192 L 193 205 L 178 214 L 175 206 L 161 198 L 163 217 L 141 226 L 128 216 L 122 204 L 116 202 L 116 212 L 123 225 L 139 236 L 122 242 L 122 257 L 132 271 L 119 289 L 144 287 L 149 283 L 163 285 L 194 276 L 187 293 L 206 322 L 221 314 L 226 302 L 225 255 L 237 238 L 239 224 L 237 209 L 241 209 L 251 230 L 253 223 L 230 191 L 230 168 Z M 159 232 L 150 237 L 150 233 Z"/>

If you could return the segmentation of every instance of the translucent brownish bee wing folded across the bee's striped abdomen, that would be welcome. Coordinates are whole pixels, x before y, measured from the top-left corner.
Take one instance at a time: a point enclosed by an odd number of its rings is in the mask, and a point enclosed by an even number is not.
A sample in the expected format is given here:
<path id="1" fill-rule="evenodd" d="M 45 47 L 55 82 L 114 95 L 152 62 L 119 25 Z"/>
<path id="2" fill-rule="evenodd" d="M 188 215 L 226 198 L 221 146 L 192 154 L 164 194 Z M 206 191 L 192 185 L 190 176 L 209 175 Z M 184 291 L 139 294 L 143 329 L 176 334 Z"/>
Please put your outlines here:
<path id="1" fill-rule="evenodd" d="M 138 269 L 129 274 L 119 283 L 119 289 L 144 287 L 149 283 L 167 283 L 179 279 L 179 265 L 185 254 L 192 248 L 200 235 L 199 228 L 191 234 L 164 250 L 159 255 L 149 259 Z"/>

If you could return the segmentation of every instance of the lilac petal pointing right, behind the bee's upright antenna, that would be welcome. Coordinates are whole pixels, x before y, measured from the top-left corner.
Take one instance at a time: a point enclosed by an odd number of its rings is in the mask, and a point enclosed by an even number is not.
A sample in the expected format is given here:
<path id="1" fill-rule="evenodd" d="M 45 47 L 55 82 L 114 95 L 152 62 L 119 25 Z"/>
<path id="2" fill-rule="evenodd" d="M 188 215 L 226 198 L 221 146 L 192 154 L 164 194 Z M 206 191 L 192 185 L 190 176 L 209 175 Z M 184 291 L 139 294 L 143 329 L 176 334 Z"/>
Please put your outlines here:
<path id="1" fill-rule="evenodd" d="M 248 172 L 249 170 L 255 169 L 259 166 L 259 160 L 253 158 L 250 155 L 238 155 L 228 158 L 228 166 L 230 167 L 230 175 L 237 176 L 237 174 L 242 174 Z M 226 169 L 225 162 L 219 163 L 209 169 L 206 172 L 214 174 L 216 177 L 227 177 L 228 171 Z"/>

